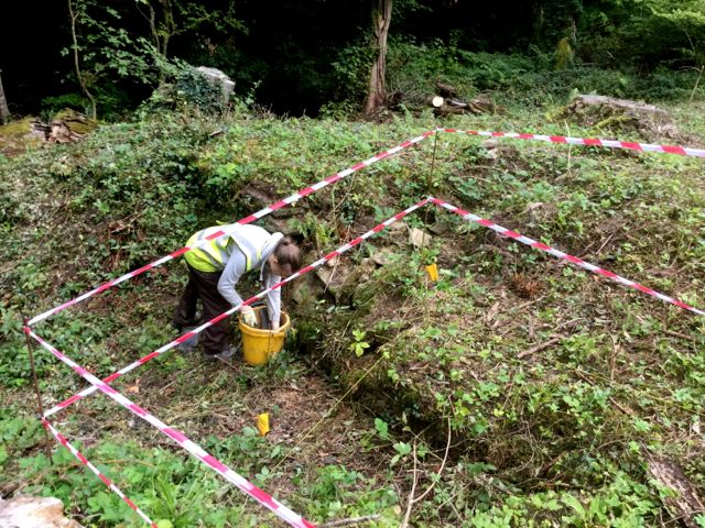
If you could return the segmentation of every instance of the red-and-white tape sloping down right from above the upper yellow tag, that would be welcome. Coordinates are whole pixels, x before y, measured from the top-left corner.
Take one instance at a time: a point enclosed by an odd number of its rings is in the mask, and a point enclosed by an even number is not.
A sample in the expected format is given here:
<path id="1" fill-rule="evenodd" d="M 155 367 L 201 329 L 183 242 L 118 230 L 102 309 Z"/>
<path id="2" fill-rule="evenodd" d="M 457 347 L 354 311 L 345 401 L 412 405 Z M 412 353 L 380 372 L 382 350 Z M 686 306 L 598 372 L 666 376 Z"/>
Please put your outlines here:
<path id="1" fill-rule="evenodd" d="M 534 250 L 540 250 L 543 251 L 545 253 L 549 253 L 550 255 L 553 255 L 555 257 L 558 257 L 561 260 L 567 261 L 571 264 L 575 264 L 576 266 L 579 266 L 584 270 L 587 270 L 588 272 L 593 272 L 597 275 L 601 275 L 603 277 L 607 277 L 611 280 L 615 280 L 616 283 L 622 284 L 625 286 L 628 286 L 630 288 L 633 288 L 638 292 L 641 292 L 642 294 L 647 294 L 650 295 L 651 297 L 655 297 L 657 299 L 661 299 L 664 300 L 666 302 L 670 302 L 674 306 L 677 306 L 679 308 L 683 308 L 684 310 L 687 311 L 692 311 L 693 314 L 697 314 L 699 316 L 705 316 L 705 311 L 703 310 L 698 310 L 697 308 L 692 307 L 691 305 L 687 305 L 681 300 L 674 299 L 672 297 L 669 297 L 668 295 L 663 295 L 660 294 L 651 288 L 647 288 L 646 286 L 642 286 L 639 283 L 634 283 L 633 280 L 629 280 L 628 278 L 625 278 L 620 275 L 617 275 L 612 272 L 608 272 L 605 268 L 601 268 L 599 266 L 596 266 L 595 264 L 590 264 L 588 262 L 583 261 L 582 258 L 578 258 L 577 256 L 573 256 L 573 255 L 568 255 L 567 253 L 563 253 L 562 251 L 558 251 L 556 249 L 553 249 L 546 244 L 543 244 L 539 241 L 535 241 L 533 239 L 530 239 L 529 237 L 524 237 L 523 234 L 519 234 L 510 229 L 507 228 L 502 228 L 501 226 L 496 224 L 495 222 L 491 222 L 490 220 L 486 220 L 484 218 L 477 217 L 475 215 L 473 215 L 471 212 L 465 211 L 458 207 L 455 207 L 451 204 L 448 204 L 447 201 L 443 201 L 440 200 L 437 198 L 433 198 L 430 197 L 429 200 L 433 204 L 435 204 L 436 206 L 441 206 L 445 209 L 447 209 L 448 211 L 455 212 L 456 215 L 459 215 L 460 217 L 463 217 L 466 220 L 479 223 L 480 226 L 484 226 L 486 228 L 491 229 L 492 231 L 498 232 L 499 234 L 501 234 L 502 237 L 508 237 L 510 239 L 516 240 L 517 242 L 521 242 L 522 244 L 529 245 L 530 248 L 533 248 Z"/>

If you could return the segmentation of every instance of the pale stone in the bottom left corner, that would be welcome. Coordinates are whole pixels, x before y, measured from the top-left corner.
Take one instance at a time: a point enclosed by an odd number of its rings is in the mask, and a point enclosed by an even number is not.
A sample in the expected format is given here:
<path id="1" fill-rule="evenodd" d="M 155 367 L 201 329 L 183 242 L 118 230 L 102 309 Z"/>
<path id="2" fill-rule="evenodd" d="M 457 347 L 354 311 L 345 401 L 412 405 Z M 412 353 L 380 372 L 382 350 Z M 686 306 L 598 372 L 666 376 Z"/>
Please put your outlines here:
<path id="1" fill-rule="evenodd" d="M 55 497 L 18 495 L 10 501 L 0 498 L 1 528 L 82 528 L 64 517 L 64 503 Z"/>

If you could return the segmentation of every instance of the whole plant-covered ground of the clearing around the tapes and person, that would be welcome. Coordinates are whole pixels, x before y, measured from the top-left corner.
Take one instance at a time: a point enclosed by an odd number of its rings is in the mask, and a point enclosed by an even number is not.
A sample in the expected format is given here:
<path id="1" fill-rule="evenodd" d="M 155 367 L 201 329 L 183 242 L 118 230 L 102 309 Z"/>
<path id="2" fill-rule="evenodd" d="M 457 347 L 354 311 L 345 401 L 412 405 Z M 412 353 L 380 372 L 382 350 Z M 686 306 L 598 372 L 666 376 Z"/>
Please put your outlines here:
<path id="1" fill-rule="evenodd" d="M 66 450 L 52 443 L 54 465 L 43 454 L 23 315 L 440 124 L 703 145 L 696 102 L 669 109 L 676 138 L 595 131 L 545 110 L 383 123 L 162 113 L 0 157 L 0 494 L 58 496 L 84 526 L 140 526 Z M 702 164 L 441 134 L 260 223 L 299 238 L 312 262 L 434 195 L 703 308 Z M 431 239 L 414 246 L 412 230 Z M 184 280 L 183 264 L 167 264 L 36 330 L 105 377 L 174 337 Z M 315 522 L 705 522 L 658 471 L 705 495 L 702 317 L 431 206 L 288 287 L 284 301 L 295 331 L 265 367 L 169 352 L 115 386 Z M 85 386 L 35 353 L 45 406 Z M 267 437 L 254 429 L 263 411 Z M 278 524 L 101 395 L 56 422 L 155 520 Z"/>

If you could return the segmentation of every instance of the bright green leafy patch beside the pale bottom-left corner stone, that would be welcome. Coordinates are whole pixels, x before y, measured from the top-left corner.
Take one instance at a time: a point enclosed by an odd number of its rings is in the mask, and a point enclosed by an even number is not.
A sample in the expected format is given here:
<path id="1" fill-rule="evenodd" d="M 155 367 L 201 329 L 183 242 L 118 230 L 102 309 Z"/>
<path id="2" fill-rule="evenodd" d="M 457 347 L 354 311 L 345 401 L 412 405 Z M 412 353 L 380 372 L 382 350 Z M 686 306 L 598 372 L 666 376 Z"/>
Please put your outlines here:
<path id="1" fill-rule="evenodd" d="M 186 528 L 200 521 L 224 527 L 228 522 L 245 521 L 247 517 L 237 509 L 221 507 L 214 499 L 221 484 L 204 474 L 197 462 L 185 461 L 164 450 L 145 451 L 132 441 L 108 441 L 88 449 L 77 442 L 76 447 L 120 488 L 129 491 L 130 498 L 162 525 L 169 521 L 174 528 Z M 19 461 L 28 477 L 39 477 L 42 483 L 30 486 L 29 493 L 56 496 L 67 509 L 80 504 L 85 515 L 96 516 L 108 526 L 126 519 L 129 519 L 129 526 L 141 526 L 141 520 L 127 504 L 106 490 L 93 473 L 76 465 L 76 459 L 67 449 L 56 450 L 52 460 L 53 466 L 44 454 Z M 110 463 L 104 466 L 102 461 Z"/>

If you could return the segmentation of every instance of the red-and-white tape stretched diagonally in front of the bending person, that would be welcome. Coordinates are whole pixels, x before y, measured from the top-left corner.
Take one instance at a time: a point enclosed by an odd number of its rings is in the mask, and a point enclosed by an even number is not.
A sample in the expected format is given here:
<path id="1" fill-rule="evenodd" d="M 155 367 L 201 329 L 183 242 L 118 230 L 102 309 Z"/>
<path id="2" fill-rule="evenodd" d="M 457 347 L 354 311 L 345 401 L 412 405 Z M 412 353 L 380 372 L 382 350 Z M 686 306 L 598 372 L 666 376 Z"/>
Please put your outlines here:
<path id="1" fill-rule="evenodd" d="M 242 301 L 242 304 L 230 308 L 228 311 L 225 311 L 223 314 L 220 314 L 219 316 L 210 319 L 209 321 L 204 322 L 203 324 L 200 324 L 199 327 L 193 329 L 191 332 L 187 332 L 183 336 L 180 336 L 178 338 L 176 338 L 175 340 L 171 341 L 170 343 L 166 343 L 165 345 L 156 349 L 153 352 L 150 352 L 149 354 L 147 354 L 143 358 L 140 358 L 139 360 L 137 360 L 135 362 L 124 366 L 123 369 L 120 369 L 119 371 L 110 374 L 108 377 L 106 377 L 105 380 L 102 380 L 102 383 L 111 383 L 115 380 L 117 380 L 118 377 L 127 374 L 130 371 L 133 371 L 134 369 L 137 369 L 140 365 L 143 365 L 144 363 L 153 360 L 154 358 L 156 358 L 158 355 L 163 354 L 164 352 L 166 352 L 167 350 L 173 349 L 174 346 L 176 346 L 180 343 L 183 343 L 184 341 L 188 341 L 191 338 L 193 338 L 194 336 L 200 333 L 202 331 L 204 331 L 206 328 L 212 327 L 214 324 L 217 324 L 218 322 L 220 322 L 223 319 L 225 319 L 226 317 L 235 314 L 236 311 L 239 311 L 243 306 L 248 306 L 251 305 L 252 302 L 254 302 L 257 299 L 261 299 L 262 297 L 264 297 L 267 294 L 269 294 L 270 292 L 273 292 L 274 289 L 281 288 L 284 284 L 290 283 L 292 280 L 295 280 L 296 278 L 301 277 L 302 275 L 304 275 L 305 273 L 311 272 L 312 270 L 315 270 L 319 266 L 322 266 L 324 263 L 330 261 L 332 258 L 335 258 L 338 255 L 341 255 L 343 253 L 345 253 L 346 251 L 355 248 L 356 245 L 358 245 L 360 242 L 362 242 L 366 239 L 369 239 L 371 235 L 379 233 L 380 231 L 382 231 L 384 228 L 391 226 L 392 223 L 394 223 L 398 220 L 401 220 L 402 218 L 404 218 L 406 215 L 415 211 L 416 209 L 425 206 L 429 202 L 429 198 L 425 198 L 423 200 L 421 200 L 417 204 L 414 204 L 413 206 L 411 206 L 408 209 L 404 209 L 403 211 L 394 215 L 393 217 L 390 217 L 389 219 L 384 220 L 382 223 L 380 223 L 379 226 L 376 226 L 375 228 L 372 228 L 371 230 L 369 230 L 367 233 L 361 234 L 360 237 L 358 237 L 357 239 L 351 240 L 350 242 L 348 242 L 347 244 L 341 245 L 340 248 L 338 248 L 337 250 L 328 253 L 326 256 L 318 258 L 316 262 L 310 264 L 306 267 L 301 268 L 299 272 L 294 273 L 293 275 L 291 275 L 290 277 L 274 284 L 273 286 L 271 286 L 270 288 L 263 289 L 262 292 L 260 292 L 259 294 L 250 297 L 249 299 Z M 84 388 L 80 393 L 77 393 L 75 395 L 73 395 L 70 398 L 65 399 L 64 402 L 61 402 L 59 404 L 55 405 L 54 407 L 52 407 L 51 409 L 48 409 L 46 413 L 44 413 L 45 417 L 52 416 L 56 413 L 58 413 L 62 409 L 65 409 L 66 407 L 68 407 L 69 405 L 74 404 L 75 402 L 78 402 L 79 399 L 95 393 L 96 391 L 98 391 L 98 388 L 95 385 L 91 385 L 90 387 L 86 387 Z"/>

